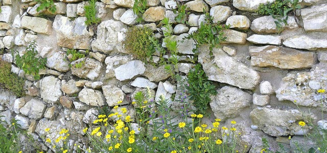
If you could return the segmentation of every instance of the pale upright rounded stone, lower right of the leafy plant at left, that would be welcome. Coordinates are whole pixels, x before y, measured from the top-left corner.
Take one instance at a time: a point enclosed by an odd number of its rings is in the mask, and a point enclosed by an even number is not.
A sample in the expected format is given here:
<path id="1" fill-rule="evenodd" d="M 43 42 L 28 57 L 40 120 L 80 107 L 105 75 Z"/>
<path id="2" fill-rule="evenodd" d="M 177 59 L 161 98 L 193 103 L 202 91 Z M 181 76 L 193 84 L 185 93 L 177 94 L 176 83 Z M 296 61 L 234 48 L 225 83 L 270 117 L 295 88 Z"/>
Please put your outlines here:
<path id="1" fill-rule="evenodd" d="M 60 88 L 61 81 L 54 76 L 47 76 L 40 80 L 40 94 L 44 102 L 57 103 L 62 96 Z"/>

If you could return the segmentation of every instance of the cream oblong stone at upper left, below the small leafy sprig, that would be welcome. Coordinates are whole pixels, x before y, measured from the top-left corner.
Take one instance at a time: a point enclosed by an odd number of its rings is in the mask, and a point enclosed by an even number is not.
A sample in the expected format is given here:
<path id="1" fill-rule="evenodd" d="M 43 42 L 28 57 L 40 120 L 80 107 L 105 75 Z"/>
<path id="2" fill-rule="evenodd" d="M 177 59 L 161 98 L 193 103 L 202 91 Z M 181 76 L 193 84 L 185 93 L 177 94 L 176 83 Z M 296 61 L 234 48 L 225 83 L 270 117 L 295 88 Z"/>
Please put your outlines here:
<path id="1" fill-rule="evenodd" d="M 52 33 L 52 22 L 39 17 L 23 16 L 21 26 L 33 30 L 33 32 L 50 35 Z"/>

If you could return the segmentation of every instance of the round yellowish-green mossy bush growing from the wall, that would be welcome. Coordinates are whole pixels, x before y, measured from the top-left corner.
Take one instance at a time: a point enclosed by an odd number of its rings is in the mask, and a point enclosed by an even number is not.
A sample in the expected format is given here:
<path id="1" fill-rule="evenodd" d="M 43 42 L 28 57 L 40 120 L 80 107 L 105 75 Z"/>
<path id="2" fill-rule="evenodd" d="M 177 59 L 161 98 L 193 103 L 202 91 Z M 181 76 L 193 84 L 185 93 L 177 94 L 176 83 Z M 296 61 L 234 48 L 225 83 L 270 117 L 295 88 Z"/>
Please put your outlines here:
<path id="1" fill-rule="evenodd" d="M 158 46 L 152 30 L 148 27 L 138 26 L 127 30 L 124 44 L 127 52 L 143 62 L 147 62 L 147 58 L 150 58 L 155 52 L 155 45 Z"/>

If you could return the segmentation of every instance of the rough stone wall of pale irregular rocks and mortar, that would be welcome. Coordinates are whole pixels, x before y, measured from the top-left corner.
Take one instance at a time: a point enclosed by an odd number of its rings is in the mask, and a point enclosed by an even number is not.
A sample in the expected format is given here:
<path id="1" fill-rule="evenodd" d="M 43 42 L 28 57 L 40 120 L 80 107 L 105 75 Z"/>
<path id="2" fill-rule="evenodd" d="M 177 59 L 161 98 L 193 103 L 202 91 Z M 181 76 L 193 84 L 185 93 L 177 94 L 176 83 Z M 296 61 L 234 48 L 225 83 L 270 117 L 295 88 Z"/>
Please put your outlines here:
<path id="1" fill-rule="evenodd" d="M 272 148 L 277 147 L 277 142 L 286 148 L 294 147 L 292 143 L 301 141 L 309 131 L 302 130 L 298 121 L 307 122 L 305 118 L 310 117 L 317 123 L 324 119 L 319 115 L 321 109 L 327 110 L 326 94 L 317 93 L 318 89 L 327 89 L 327 2 L 300 0 L 302 9 L 289 16 L 281 34 L 276 34 L 271 16 L 254 13 L 260 3 L 270 2 L 274 0 L 188 1 L 185 5 L 192 12 L 188 25 L 176 24 L 174 1 L 150 0 L 143 15 L 145 25 L 160 38 L 162 29 L 157 25 L 168 17 L 174 23 L 177 40 L 198 28 L 204 18 L 203 9 L 210 12 L 214 22 L 231 25 L 224 31 L 227 40 L 222 47 L 214 48 L 214 59 L 209 56 L 208 46 L 199 48 L 198 63 L 209 80 L 220 82 L 218 94 L 212 97 L 207 110 L 210 115 L 203 123 L 212 123 L 216 117 L 223 120 L 222 125 L 236 120 L 250 152 L 260 151 L 262 137 Z M 86 137 L 82 129 L 98 113 L 98 106 L 111 108 L 122 101 L 123 107 L 132 110 L 133 94 L 147 86 L 156 93 L 155 99 L 160 95 L 171 99 L 175 85 L 164 66 L 146 65 L 124 49 L 124 32 L 136 25 L 133 3 L 97 2 L 101 23 L 89 28 L 84 23 L 83 10 L 87 2 L 57 2 L 54 14 L 48 12 L 49 17 L 40 18 L 38 5 L 30 0 L 3 0 L 0 48 L 5 53 L 0 58 L 12 64 L 12 72 L 29 80 L 25 85 L 27 95 L 22 98 L 0 88 L 2 120 L 9 123 L 11 118 L 19 119 L 18 124 L 35 139 L 46 135 L 45 128 L 52 128 L 54 135 L 66 128 L 77 133 L 72 142 L 83 145 Z M 15 66 L 10 53 L 15 49 L 24 54 L 32 41 L 36 41 L 39 56 L 48 58 L 47 68 L 37 81 Z M 187 74 L 194 66 L 183 60 L 193 58 L 194 43 L 179 44 L 182 60 L 176 71 L 180 74 Z M 89 56 L 69 63 L 67 48 L 90 50 Z M 82 61 L 82 68 L 69 67 Z M 288 140 L 288 136 L 292 139 Z M 40 145 L 48 150 L 46 145 Z"/>

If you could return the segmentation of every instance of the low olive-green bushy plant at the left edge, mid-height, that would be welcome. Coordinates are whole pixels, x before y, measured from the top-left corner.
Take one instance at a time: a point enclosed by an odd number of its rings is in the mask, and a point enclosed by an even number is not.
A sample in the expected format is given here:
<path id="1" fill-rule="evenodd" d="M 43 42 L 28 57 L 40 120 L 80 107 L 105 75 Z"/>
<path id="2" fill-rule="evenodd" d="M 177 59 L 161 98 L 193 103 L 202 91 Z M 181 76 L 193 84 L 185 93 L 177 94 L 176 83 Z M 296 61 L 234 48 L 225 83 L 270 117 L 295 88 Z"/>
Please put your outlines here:
<path id="1" fill-rule="evenodd" d="M 11 64 L 0 60 L 0 85 L 12 91 L 17 97 L 25 95 L 25 79 L 11 71 Z"/>

